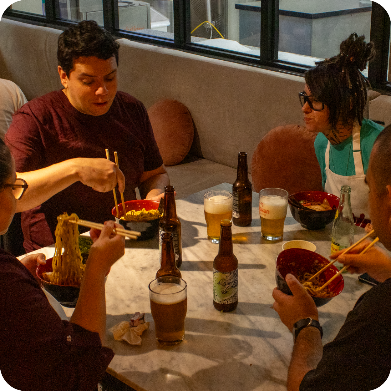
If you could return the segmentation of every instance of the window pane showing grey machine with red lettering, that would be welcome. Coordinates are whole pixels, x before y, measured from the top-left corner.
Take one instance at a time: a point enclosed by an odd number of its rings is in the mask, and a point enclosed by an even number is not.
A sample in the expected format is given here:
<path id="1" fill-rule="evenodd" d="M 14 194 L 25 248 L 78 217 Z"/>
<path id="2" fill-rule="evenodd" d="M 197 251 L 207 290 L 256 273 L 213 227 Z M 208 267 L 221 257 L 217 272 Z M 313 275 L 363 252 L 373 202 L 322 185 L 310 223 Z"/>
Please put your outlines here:
<path id="1" fill-rule="evenodd" d="M 121 30 L 174 39 L 174 0 L 118 1 Z"/>

